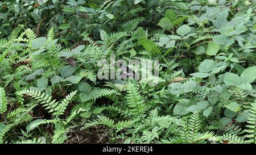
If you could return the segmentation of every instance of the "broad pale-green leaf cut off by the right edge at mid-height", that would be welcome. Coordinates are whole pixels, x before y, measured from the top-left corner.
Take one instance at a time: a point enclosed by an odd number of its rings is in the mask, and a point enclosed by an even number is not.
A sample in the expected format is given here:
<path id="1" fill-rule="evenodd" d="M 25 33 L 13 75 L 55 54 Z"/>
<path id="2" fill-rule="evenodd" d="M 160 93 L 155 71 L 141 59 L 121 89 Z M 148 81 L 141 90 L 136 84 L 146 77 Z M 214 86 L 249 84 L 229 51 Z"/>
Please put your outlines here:
<path id="1" fill-rule="evenodd" d="M 256 79 L 256 66 L 243 70 L 240 77 L 243 82 L 253 82 Z"/>

